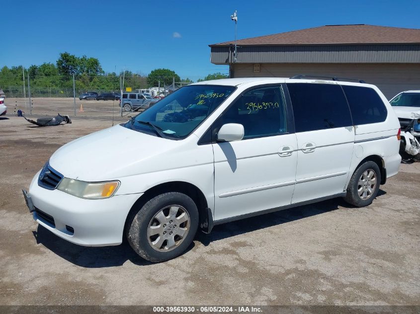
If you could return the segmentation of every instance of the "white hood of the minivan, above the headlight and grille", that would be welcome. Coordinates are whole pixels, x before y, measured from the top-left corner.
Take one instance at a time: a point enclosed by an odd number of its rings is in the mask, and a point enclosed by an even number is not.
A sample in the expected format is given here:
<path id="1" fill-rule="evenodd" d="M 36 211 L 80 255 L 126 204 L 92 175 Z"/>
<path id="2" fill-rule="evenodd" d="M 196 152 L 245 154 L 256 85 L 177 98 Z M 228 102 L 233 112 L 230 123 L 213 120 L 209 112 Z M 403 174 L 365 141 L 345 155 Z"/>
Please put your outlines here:
<path id="1" fill-rule="evenodd" d="M 179 146 L 179 141 L 112 126 L 60 147 L 50 165 L 64 177 L 106 181 L 147 172 L 144 161 Z M 139 167 L 139 165 L 141 165 Z"/>

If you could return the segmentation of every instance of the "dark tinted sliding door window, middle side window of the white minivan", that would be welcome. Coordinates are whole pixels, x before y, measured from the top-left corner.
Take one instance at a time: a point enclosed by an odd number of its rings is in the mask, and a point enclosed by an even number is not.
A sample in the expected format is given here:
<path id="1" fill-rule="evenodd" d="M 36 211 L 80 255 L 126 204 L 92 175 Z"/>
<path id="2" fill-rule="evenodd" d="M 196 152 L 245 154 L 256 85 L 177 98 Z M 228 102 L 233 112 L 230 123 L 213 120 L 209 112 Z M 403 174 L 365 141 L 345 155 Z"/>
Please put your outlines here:
<path id="1" fill-rule="evenodd" d="M 287 84 L 296 132 L 351 126 L 351 116 L 341 87 L 336 84 Z"/>

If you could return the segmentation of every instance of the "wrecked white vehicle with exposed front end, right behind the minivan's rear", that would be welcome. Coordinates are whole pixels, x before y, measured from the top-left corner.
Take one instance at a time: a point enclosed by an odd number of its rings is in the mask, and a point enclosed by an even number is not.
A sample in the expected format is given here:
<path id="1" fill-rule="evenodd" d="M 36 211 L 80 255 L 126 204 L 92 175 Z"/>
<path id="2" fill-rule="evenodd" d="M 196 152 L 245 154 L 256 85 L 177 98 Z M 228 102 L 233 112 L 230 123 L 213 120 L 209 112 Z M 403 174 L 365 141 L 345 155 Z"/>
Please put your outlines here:
<path id="1" fill-rule="evenodd" d="M 399 93 L 390 100 L 401 124 L 401 153 L 420 154 L 420 90 Z"/>

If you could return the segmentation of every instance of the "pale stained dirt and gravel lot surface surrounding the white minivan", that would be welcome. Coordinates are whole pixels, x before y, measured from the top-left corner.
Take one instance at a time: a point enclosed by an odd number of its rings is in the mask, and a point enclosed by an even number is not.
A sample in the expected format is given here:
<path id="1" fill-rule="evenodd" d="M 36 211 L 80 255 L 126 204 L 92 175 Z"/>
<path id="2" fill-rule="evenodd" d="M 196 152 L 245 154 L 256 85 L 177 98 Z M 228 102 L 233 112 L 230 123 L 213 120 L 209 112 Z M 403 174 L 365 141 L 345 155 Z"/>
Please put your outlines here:
<path id="1" fill-rule="evenodd" d="M 0 305 L 419 305 L 420 165 L 373 204 L 340 198 L 216 226 L 160 264 L 85 248 L 32 220 L 21 189 L 62 144 L 111 125 L 0 120 Z"/>

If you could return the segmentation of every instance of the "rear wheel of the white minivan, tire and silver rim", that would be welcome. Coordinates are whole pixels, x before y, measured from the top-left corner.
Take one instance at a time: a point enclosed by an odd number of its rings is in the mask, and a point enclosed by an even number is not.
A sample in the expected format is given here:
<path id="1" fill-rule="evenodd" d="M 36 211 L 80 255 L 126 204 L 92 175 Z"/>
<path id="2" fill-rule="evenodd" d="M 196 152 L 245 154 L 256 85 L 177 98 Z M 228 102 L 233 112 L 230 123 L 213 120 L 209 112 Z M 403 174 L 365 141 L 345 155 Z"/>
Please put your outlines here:
<path id="1" fill-rule="evenodd" d="M 367 161 L 351 176 L 344 200 L 357 207 L 368 206 L 378 194 L 380 183 L 381 171 L 378 165 L 373 161 Z"/>

